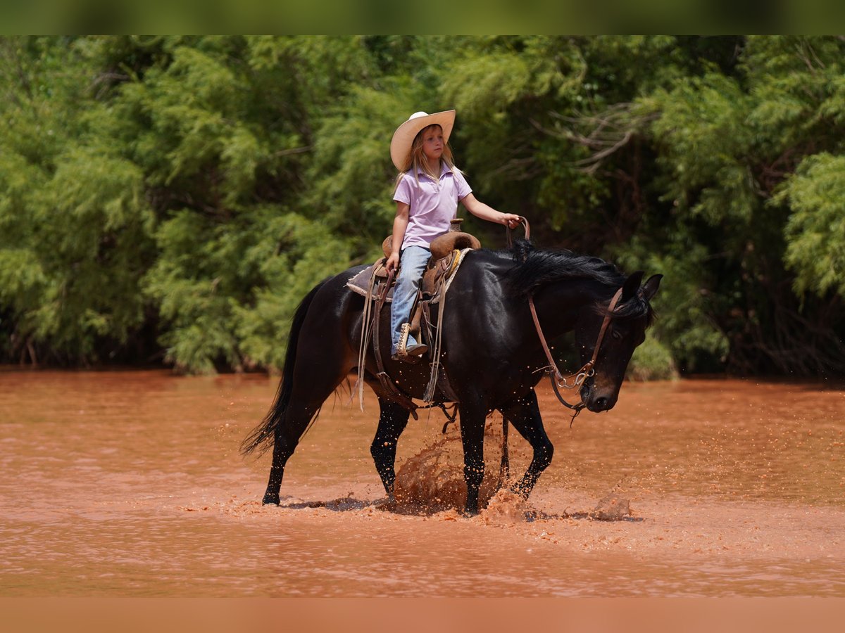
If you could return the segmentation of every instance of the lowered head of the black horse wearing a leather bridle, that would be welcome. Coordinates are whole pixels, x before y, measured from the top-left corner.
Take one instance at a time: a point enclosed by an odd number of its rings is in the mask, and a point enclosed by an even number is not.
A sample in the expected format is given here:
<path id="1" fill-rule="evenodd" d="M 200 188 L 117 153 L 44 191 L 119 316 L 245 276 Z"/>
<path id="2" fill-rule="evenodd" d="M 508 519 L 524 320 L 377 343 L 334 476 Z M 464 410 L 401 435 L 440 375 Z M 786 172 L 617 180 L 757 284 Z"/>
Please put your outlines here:
<path id="1" fill-rule="evenodd" d="M 649 301 L 660 287 L 662 275 L 641 285 L 643 272 L 625 280 L 612 308 L 603 303 L 582 311 L 575 327 L 575 344 L 581 363 L 594 360 L 591 375 L 581 385 L 581 402 L 593 413 L 608 411 L 619 398 L 625 371 L 634 349 L 646 339 L 654 312 Z"/>

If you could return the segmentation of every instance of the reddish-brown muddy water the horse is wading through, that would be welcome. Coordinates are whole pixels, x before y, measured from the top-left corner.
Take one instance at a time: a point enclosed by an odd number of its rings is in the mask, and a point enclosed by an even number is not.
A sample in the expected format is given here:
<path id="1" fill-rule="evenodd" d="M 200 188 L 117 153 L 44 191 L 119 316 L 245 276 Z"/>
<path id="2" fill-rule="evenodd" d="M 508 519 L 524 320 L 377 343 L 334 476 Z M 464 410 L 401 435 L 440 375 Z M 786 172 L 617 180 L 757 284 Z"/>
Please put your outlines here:
<path id="1" fill-rule="evenodd" d="M 348 393 L 325 404 L 283 505 L 262 507 L 269 457 L 237 447 L 275 387 L 0 371 L 0 596 L 845 596 L 842 385 L 627 383 L 571 428 L 541 387 L 552 465 L 527 505 L 499 495 L 473 518 L 379 506 L 370 392 L 364 413 Z M 423 414 L 401 439 L 417 487 L 434 453 L 460 472 L 443 422 Z M 610 493 L 631 515 L 586 518 Z"/>

